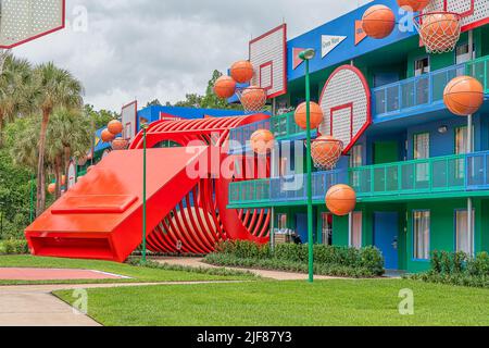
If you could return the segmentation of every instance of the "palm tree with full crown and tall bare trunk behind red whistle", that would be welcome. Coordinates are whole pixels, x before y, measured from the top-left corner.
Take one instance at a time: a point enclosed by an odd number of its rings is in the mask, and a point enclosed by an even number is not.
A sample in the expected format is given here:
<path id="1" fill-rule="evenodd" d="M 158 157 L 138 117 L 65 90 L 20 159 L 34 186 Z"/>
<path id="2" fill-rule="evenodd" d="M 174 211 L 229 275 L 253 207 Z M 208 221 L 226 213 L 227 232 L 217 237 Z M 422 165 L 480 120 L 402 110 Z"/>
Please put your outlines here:
<path id="1" fill-rule="evenodd" d="M 83 92 L 82 83 L 68 71 L 59 69 L 53 63 L 41 64 L 34 70 L 33 97 L 42 113 L 37 164 L 36 212 L 38 216 L 46 209 L 45 154 L 49 119 L 55 108 L 80 109 Z"/>

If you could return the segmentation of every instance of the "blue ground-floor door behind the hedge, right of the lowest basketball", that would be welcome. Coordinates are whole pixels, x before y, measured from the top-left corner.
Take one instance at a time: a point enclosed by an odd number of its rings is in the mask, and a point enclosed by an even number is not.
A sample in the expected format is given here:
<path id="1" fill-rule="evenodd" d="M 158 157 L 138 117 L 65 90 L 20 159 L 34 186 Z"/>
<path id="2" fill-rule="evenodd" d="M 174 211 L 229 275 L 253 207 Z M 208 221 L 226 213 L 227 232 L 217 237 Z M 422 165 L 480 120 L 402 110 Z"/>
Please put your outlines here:
<path id="1" fill-rule="evenodd" d="M 399 269 L 399 214 L 375 213 L 374 245 L 383 252 L 387 270 Z"/>

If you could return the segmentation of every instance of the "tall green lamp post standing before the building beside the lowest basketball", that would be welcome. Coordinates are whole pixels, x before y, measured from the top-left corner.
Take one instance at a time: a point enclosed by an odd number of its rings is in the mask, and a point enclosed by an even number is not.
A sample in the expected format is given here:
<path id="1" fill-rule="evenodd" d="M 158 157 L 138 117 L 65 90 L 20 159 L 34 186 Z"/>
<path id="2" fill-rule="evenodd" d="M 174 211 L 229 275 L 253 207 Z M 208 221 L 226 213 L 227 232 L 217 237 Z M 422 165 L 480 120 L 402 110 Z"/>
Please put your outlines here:
<path id="1" fill-rule="evenodd" d="M 309 282 L 314 282 L 314 234 L 313 234 L 313 201 L 312 201 L 312 161 L 311 161 L 311 86 L 309 62 L 316 55 L 314 49 L 299 53 L 305 62 L 305 115 L 306 115 L 306 170 L 308 170 L 308 246 L 309 246 Z"/>

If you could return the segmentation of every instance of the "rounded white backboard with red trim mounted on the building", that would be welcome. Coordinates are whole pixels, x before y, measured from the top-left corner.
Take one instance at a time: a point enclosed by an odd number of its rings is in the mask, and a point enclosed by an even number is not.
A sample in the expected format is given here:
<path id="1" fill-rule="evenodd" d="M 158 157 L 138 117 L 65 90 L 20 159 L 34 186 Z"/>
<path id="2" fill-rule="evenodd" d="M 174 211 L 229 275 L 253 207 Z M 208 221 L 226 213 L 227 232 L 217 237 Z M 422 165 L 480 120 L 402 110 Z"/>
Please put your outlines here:
<path id="1" fill-rule="evenodd" d="M 348 153 L 372 124 L 371 88 L 362 72 L 352 65 L 338 67 L 324 86 L 319 105 L 319 134 L 341 140 Z"/>

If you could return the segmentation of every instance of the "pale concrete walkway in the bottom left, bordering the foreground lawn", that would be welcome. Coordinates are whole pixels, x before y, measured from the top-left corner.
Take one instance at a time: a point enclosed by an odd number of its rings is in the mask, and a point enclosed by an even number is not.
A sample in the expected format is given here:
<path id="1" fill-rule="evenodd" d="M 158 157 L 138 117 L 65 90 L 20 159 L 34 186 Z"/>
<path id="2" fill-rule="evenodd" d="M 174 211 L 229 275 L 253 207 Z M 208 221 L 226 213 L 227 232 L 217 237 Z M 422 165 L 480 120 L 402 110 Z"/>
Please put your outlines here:
<path id="1" fill-rule="evenodd" d="M 89 285 L 22 285 L 0 286 L 0 326 L 101 326 L 89 316 L 76 312 L 58 297 L 57 290 L 90 288 L 192 285 L 235 282 L 167 282 Z"/>

